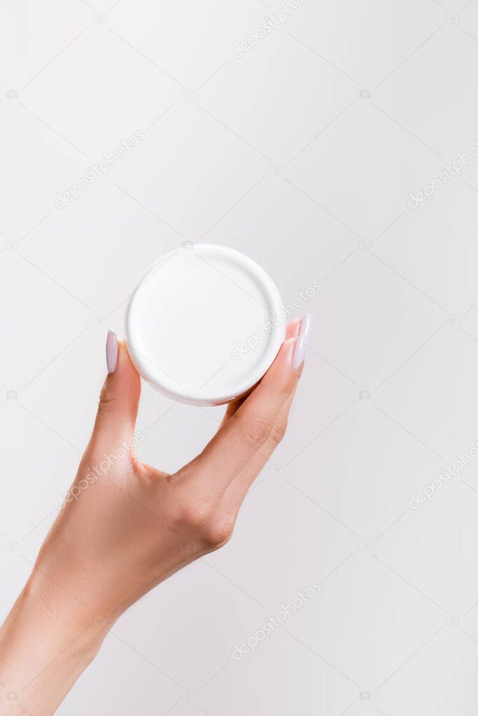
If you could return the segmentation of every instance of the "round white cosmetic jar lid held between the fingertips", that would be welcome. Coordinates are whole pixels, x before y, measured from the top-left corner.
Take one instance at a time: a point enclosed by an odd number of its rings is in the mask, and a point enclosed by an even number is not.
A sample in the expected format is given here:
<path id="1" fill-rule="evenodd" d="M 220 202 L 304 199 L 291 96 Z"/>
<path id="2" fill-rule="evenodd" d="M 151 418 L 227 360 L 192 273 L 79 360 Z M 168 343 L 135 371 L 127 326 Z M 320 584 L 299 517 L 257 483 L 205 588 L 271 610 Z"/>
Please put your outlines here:
<path id="1" fill-rule="evenodd" d="M 262 378 L 285 338 L 272 279 L 225 246 L 184 243 L 143 276 L 126 311 L 130 358 L 153 387 L 221 405 Z"/>

